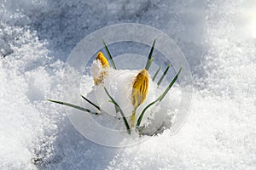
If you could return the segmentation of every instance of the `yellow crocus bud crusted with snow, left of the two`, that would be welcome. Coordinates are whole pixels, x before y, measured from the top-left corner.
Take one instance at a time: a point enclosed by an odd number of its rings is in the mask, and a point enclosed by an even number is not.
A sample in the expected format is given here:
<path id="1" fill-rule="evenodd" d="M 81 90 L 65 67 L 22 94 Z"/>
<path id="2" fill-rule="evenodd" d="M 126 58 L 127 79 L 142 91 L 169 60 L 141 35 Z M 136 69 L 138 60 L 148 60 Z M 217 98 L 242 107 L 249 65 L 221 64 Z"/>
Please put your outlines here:
<path id="1" fill-rule="evenodd" d="M 101 66 L 103 69 L 108 69 L 109 64 L 108 64 L 108 59 L 102 54 L 102 52 L 99 52 L 97 54 L 96 60 L 99 60 L 101 62 Z M 108 74 L 108 71 L 102 71 L 101 75 L 99 77 L 94 77 L 94 83 L 95 85 L 99 85 L 103 82 L 104 76 Z"/>

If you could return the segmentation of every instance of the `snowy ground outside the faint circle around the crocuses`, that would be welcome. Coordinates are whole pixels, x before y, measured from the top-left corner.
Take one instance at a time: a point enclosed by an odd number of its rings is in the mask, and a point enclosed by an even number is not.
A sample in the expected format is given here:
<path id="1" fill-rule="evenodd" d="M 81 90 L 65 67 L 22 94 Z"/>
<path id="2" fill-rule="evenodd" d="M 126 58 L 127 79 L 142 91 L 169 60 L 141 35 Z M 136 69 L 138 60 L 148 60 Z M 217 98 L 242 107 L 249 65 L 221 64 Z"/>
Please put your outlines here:
<path id="1" fill-rule="evenodd" d="M 1 169 L 255 169 L 256 4 L 236 1 L 0 0 Z M 84 139 L 61 105 L 68 54 L 103 26 L 165 31 L 193 73 L 189 118 L 141 144 Z M 148 54 L 146 51 L 145 54 Z"/>

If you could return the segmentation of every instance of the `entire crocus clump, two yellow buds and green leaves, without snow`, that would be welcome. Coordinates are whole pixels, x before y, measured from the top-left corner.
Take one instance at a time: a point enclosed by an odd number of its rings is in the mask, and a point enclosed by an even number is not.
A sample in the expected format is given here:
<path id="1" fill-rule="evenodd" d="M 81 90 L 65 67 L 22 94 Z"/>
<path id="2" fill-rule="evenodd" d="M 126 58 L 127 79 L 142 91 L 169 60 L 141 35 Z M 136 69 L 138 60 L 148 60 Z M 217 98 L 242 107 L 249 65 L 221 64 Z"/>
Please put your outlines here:
<path id="1" fill-rule="evenodd" d="M 102 42 L 103 42 L 104 48 L 108 54 L 108 59 L 110 60 L 110 63 L 112 65 L 113 69 L 117 70 L 116 66 L 114 65 L 113 58 L 108 50 L 106 43 L 103 40 L 102 40 Z M 111 94 L 109 94 L 108 89 L 105 87 L 104 81 L 109 77 L 109 71 L 110 71 L 110 69 L 112 69 L 112 68 L 110 68 L 108 59 L 104 56 L 104 54 L 102 54 L 102 52 L 98 52 L 96 59 L 93 61 L 92 65 L 91 65 L 91 68 L 92 68 L 91 74 L 93 76 L 95 86 L 104 88 L 105 93 L 108 95 L 109 101 L 111 103 L 113 103 L 113 105 L 115 107 L 115 111 L 117 113 L 119 113 L 120 116 L 123 118 L 127 133 L 131 133 L 131 129 L 133 127 L 136 127 L 139 134 L 143 133 L 142 132 L 143 127 L 141 127 L 141 122 L 143 120 L 143 116 L 144 116 L 145 112 L 148 110 L 149 107 L 151 107 L 152 105 L 155 105 L 156 103 L 158 103 L 162 99 L 164 99 L 164 97 L 166 96 L 166 94 L 168 93 L 170 88 L 172 88 L 172 85 L 174 84 L 174 82 L 177 81 L 177 77 L 180 74 L 180 72 L 182 71 L 182 66 L 181 66 L 179 71 L 177 71 L 177 75 L 173 78 L 173 80 L 169 84 L 169 86 L 166 87 L 166 90 L 163 92 L 163 94 L 161 94 L 157 99 L 155 99 L 154 101 L 152 101 L 151 103 L 146 105 L 145 108 L 143 108 L 143 111 L 141 113 L 137 113 L 137 108 L 143 104 L 143 102 L 147 98 L 147 94 L 148 94 L 148 81 L 149 81 L 149 78 L 151 78 L 148 76 L 148 69 L 154 60 L 154 58 L 152 58 L 152 54 L 154 51 L 154 44 L 155 44 L 155 40 L 154 40 L 154 43 L 150 50 L 150 53 L 148 55 L 148 61 L 147 61 L 145 68 L 143 68 L 141 71 L 138 71 L 137 75 L 133 78 L 133 81 L 131 83 L 130 101 L 131 101 L 131 105 L 133 106 L 133 109 L 131 111 L 132 113 L 131 113 L 130 121 L 127 121 L 124 111 L 122 111 L 122 109 L 119 105 L 119 101 L 114 99 L 113 96 L 111 96 Z M 166 70 L 163 72 L 163 75 L 160 77 L 160 80 L 157 82 L 158 86 L 162 82 L 163 78 L 166 76 L 166 73 L 170 67 L 171 67 L 171 64 L 166 67 Z M 160 69 L 161 69 L 161 67 L 159 67 L 159 69 L 155 72 L 154 77 L 152 77 L 153 82 L 154 82 L 155 78 L 157 77 Z M 57 104 L 67 105 L 67 106 L 73 107 L 75 109 L 79 109 L 80 111 L 85 111 L 85 112 L 100 116 L 100 114 L 102 113 L 101 106 L 96 105 L 94 102 L 90 101 L 90 99 L 87 99 L 83 95 L 81 95 L 81 96 L 90 105 L 93 105 L 97 111 L 91 111 L 89 109 L 80 107 L 79 105 L 73 105 L 73 104 L 69 104 L 67 102 L 62 102 L 62 101 L 53 100 L 53 99 L 48 99 L 48 100 L 51 102 L 55 102 Z M 137 120 L 136 120 L 136 115 L 138 117 Z M 136 123 L 136 125 L 135 125 L 135 123 Z"/>

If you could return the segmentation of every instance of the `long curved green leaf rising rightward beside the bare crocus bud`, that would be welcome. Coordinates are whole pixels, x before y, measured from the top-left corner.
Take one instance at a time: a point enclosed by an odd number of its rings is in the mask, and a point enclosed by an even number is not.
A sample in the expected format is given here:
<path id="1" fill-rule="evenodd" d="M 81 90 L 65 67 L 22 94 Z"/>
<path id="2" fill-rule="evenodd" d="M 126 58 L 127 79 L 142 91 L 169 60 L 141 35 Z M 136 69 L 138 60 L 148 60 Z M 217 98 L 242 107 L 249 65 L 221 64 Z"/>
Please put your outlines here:
<path id="1" fill-rule="evenodd" d="M 164 99 L 164 97 L 166 96 L 166 94 L 169 92 L 169 90 L 172 88 L 172 85 L 174 84 L 174 82 L 177 81 L 177 77 L 180 74 L 180 72 L 183 69 L 183 65 L 181 65 L 181 67 L 179 68 L 179 70 L 177 71 L 177 75 L 172 79 L 172 82 L 169 84 L 169 86 L 166 88 L 165 92 L 163 94 L 160 95 L 160 97 L 156 100 L 154 100 L 154 102 L 150 103 L 149 105 L 147 105 L 144 109 L 143 112 L 141 113 L 141 115 L 139 116 L 138 120 L 137 120 L 137 127 L 140 126 L 142 120 L 143 120 L 143 116 L 145 114 L 145 112 L 148 110 L 149 107 L 151 107 L 152 105 L 154 105 L 155 103 L 157 103 L 158 101 L 160 102 L 162 99 Z"/>

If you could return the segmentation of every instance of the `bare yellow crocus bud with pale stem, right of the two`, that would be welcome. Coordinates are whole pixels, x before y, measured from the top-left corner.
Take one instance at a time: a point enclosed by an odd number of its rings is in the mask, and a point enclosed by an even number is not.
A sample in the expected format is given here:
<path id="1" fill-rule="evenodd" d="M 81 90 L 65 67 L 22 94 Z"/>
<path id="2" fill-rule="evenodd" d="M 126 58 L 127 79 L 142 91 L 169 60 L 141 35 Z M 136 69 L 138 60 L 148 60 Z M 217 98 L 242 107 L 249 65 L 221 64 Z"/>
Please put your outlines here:
<path id="1" fill-rule="evenodd" d="M 134 126 L 135 122 L 135 113 L 137 107 L 141 105 L 148 94 L 148 71 L 143 69 L 137 74 L 133 84 L 132 84 L 132 92 L 131 92 L 131 103 L 134 106 L 134 110 L 131 115 L 131 127 Z"/>

